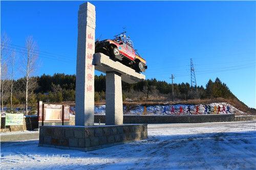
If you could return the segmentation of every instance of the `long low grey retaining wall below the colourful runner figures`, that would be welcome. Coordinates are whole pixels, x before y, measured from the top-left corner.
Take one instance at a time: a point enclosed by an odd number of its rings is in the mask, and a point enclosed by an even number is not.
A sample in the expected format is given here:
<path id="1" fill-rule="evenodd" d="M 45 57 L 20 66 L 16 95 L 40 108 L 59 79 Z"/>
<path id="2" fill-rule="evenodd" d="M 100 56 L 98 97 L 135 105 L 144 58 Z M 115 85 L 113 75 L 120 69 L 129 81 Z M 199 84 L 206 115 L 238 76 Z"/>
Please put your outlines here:
<path id="1" fill-rule="evenodd" d="M 94 122 L 105 122 L 105 115 L 94 115 Z M 170 123 L 206 123 L 234 122 L 234 114 L 209 115 L 123 115 L 124 124 L 170 124 Z"/>

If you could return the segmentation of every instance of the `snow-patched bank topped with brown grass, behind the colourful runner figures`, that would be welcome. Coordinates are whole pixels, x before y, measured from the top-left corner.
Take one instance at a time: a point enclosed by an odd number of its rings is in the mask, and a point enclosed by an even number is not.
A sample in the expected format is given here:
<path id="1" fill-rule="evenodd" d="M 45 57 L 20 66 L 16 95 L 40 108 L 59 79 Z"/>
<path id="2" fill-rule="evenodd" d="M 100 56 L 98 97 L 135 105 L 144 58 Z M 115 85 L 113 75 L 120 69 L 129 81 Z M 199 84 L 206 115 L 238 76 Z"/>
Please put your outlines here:
<path id="1" fill-rule="evenodd" d="M 75 103 L 74 102 L 62 102 L 62 104 L 70 105 L 75 114 Z M 184 113 L 186 114 L 187 106 L 191 107 L 191 112 L 194 114 L 196 110 L 196 106 L 199 106 L 200 114 L 204 114 L 205 105 L 210 105 L 211 110 L 214 110 L 214 106 L 220 106 L 222 110 L 222 106 L 229 106 L 230 112 L 235 115 L 256 115 L 256 110 L 248 108 L 246 105 L 239 101 L 229 101 L 226 99 L 218 98 L 211 100 L 188 100 L 188 101 L 124 101 L 123 102 L 123 114 L 143 114 L 144 106 L 146 107 L 146 114 L 156 114 L 161 115 L 164 107 L 166 107 L 166 113 L 164 114 L 172 114 L 170 113 L 171 107 L 175 107 L 175 114 L 179 113 L 179 107 L 182 106 Z M 220 112 L 223 113 L 223 112 Z M 105 102 L 96 102 L 95 103 L 95 114 L 105 114 Z M 215 114 L 211 112 L 211 114 Z"/>

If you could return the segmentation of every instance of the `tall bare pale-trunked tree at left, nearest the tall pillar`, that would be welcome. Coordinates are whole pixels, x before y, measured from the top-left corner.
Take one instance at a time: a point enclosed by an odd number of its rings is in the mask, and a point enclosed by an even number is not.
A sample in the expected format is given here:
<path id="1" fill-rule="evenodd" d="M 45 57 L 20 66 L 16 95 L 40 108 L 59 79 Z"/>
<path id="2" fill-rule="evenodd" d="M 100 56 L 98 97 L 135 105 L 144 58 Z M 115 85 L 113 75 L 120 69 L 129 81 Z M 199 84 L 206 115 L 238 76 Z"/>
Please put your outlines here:
<path id="1" fill-rule="evenodd" d="M 37 67 L 37 58 L 38 50 L 37 44 L 33 40 L 32 36 L 26 38 L 26 55 L 24 56 L 24 68 L 23 72 L 25 73 L 25 88 L 26 88 L 26 115 L 28 115 L 28 99 L 29 96 L 33 93 L 33 90 L 36 87 L 36 79 L 32 79 L 34 71 Z"/>

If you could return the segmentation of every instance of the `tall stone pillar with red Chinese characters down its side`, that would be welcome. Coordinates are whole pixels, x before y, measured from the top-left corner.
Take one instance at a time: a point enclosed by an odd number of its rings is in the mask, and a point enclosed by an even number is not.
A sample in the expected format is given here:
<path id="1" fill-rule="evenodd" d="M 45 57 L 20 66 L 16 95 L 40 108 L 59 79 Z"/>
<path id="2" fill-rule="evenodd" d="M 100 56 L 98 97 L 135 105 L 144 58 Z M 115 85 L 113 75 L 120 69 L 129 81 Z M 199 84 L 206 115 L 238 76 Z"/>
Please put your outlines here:
<path id="1" fill-rule="evenodd" d="M 76 126 L 94 125 L 95 6 L 80 5 L 76 60 Z"/>

